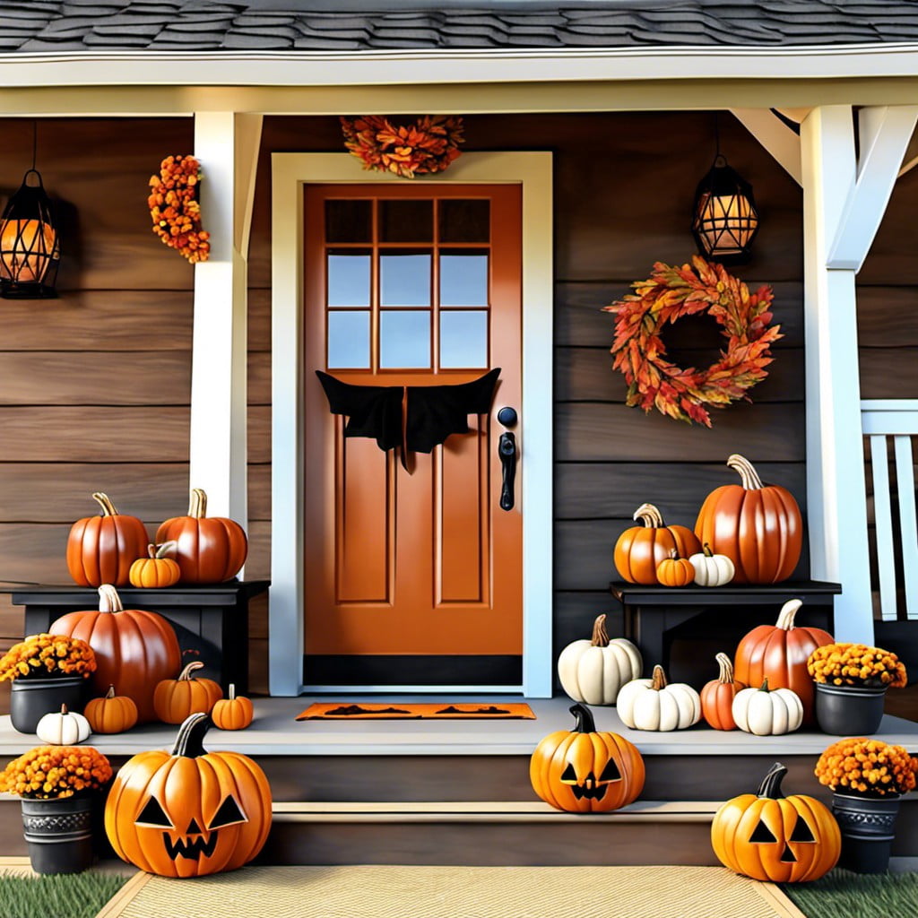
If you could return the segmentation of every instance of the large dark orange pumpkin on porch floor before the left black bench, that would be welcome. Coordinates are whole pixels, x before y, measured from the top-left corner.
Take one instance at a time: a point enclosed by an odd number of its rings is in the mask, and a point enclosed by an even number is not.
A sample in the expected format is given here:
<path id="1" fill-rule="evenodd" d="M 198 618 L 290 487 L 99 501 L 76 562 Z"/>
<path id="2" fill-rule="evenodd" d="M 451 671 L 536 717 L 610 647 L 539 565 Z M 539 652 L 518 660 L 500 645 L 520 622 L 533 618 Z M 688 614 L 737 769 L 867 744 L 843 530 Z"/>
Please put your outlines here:
<path id="1" fill-rule="evenodd" d="M 139 721 L 153 721 L 153 689 L 182 665 L 173 626 L 156 612 L 125 609 L 111 584 L 99 587 L 99 608 L 67 612 L 50 625 L 53 634 L 82 638 L 95 651 L 92 686 L 105 694 L 118 686 L 137 705 Z"/>

